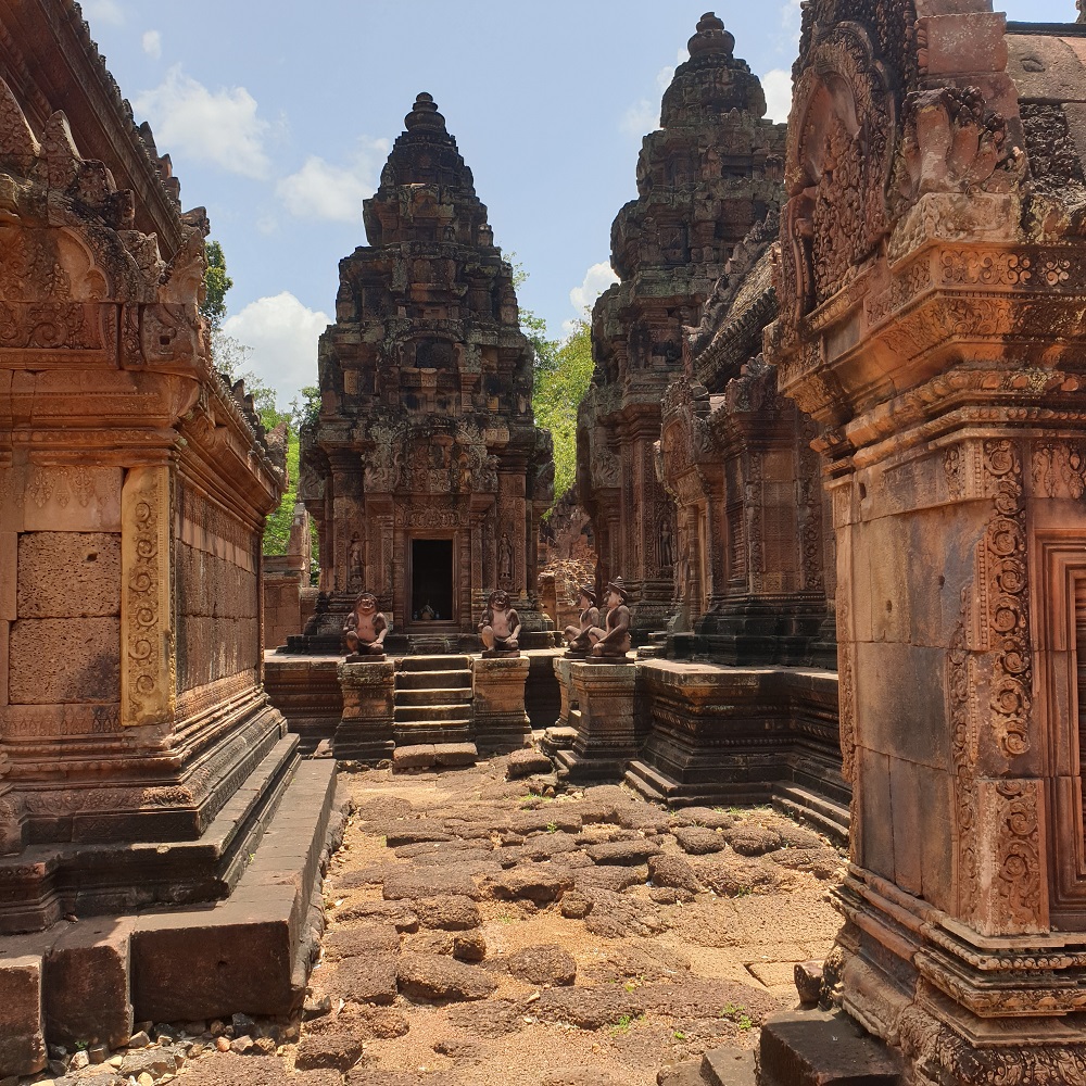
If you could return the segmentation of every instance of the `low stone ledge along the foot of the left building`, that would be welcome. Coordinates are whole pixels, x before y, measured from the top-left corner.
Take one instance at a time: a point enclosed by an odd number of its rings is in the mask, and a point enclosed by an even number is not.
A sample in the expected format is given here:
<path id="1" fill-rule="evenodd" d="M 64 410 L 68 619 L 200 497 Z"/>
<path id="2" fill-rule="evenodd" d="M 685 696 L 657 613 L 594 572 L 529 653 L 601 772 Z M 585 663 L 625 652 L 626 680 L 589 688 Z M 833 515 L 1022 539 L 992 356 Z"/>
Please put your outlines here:
<path id="1" fill-rule="evenodd" d="M 134 1021 L 291 1013 L 324 929 L 334 790 L 331 761 L 298 766 L 227 900 L 0 938 L 0 1076 L 40 1071 L 46 1044 L 118 1047 Z"/>

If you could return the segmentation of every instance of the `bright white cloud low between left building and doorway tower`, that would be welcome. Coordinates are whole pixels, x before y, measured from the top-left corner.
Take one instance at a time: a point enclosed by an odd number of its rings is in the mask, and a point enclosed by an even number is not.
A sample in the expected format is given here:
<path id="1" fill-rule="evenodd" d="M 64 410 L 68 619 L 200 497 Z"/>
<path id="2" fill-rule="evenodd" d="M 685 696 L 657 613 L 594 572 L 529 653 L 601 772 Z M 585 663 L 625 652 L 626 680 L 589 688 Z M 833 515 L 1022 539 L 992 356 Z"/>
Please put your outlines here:
<path id="1" fill-rule="evenodd" d="M 317 383 L 317 339 L 329 323 L 327 313 L 304 306 L 289 291 L 261 298 L 223 321 L 223 331 L 253 349 L 245 361 L 276 390 L 286 411 L 306 384 Z"/>

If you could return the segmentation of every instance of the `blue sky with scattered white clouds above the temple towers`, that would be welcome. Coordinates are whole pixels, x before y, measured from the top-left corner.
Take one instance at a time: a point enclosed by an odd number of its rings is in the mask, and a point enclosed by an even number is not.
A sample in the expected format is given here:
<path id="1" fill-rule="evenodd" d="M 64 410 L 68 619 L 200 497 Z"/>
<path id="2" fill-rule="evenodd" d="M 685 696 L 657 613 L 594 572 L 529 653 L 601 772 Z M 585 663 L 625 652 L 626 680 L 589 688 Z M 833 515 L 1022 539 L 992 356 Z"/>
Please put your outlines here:
<path id="1" fill-rule="evenodd" d="M 1073 0 L 1007 0 L 1010 18 Z M 286 404 L 316 381 L 338 263 L 422 90 L 434 96 L 529 273 L 552 334 L 609 281 L 610 224 L 636 194 L 641 137 L 706 0 L 85 0 L 91 34 L 204 205 L 235 287 L 228 330 Z M 736 55 L 787 110 L 798 0 L 718 3 Z"/>

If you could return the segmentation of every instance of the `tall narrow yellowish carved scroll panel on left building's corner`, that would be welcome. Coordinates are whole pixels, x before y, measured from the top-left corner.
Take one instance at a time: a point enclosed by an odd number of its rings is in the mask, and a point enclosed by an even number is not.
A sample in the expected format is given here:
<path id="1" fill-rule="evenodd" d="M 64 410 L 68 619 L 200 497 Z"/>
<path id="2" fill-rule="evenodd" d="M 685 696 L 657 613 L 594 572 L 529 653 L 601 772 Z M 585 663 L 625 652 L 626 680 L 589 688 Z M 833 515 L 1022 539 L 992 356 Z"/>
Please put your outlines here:
<path id="1" fill-rule="evenodd" d="M 169 469 L 130 468 L 121 514 L 122 724 L 167 723 L 174 710 Z"/>

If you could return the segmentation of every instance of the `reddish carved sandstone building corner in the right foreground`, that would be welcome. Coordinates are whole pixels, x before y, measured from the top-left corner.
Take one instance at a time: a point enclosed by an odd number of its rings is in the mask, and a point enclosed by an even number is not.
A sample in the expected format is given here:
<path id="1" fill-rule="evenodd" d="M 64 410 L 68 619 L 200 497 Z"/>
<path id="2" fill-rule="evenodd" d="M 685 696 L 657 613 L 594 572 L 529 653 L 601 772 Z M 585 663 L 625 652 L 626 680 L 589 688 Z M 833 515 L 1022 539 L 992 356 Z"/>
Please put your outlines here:
<path id="1" fill-rule="evenodd" d="M 1086 148 L 990 7 L 808 5 L 767 354 L 825 427 L 839 998 L 909 1083 L 1055 1086 L 1086 1083 Z"/>

